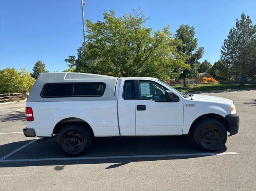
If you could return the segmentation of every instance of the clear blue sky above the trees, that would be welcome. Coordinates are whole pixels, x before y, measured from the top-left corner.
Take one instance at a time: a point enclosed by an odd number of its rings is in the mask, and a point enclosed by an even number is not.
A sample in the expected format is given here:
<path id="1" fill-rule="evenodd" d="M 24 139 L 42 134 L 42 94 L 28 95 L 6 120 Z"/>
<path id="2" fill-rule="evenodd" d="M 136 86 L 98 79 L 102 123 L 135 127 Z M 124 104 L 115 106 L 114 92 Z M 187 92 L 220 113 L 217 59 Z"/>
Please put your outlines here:
<path id="1" fill-rule="evenodd" d="M 200 61 L 212 64 L 236 18 L 242 12 L 256 23 L 256 0 L 233 1 L 107 1 L 85 0 L 85 19 L 102 20 L 104 10 L 116 16 L 140 8 L 150 19 L 146 26 L 158 30 L 170 24 L 175 33 L 182 24 L 194 26 L 198 45 L 204 47 Z M 80 0 L 0 0 L 0 69 L 14 67 L 32 71 L 42 60 L 49 71 L 67 69 L 64 61 L 81 46 Z"/>

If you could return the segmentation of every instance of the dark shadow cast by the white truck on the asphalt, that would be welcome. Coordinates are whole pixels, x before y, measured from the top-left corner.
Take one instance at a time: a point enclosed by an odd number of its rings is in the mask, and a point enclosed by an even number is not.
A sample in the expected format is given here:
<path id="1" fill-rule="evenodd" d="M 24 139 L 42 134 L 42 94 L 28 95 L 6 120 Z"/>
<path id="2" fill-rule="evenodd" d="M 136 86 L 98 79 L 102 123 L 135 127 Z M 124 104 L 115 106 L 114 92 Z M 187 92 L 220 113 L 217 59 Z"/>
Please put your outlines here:
<path id="1" fill-rule="evenodd" d="M 27 141 L 22 141 L 24 144 Z M 20 143 L 20 142 L 19 142 Z M 0 146 L 0 151 L 10 150 L 10 143 Z M 225 152 L 226 146 L 216 154 Z M 95 138 L 91 148 L 80 157 L 106 157 L 106 156 L 135 156 L 135 155 L 165 155 L 165 154 L 195 154 L 206 153 L 192 146 L 188 136 L 148 136 L 148 137 L 107 137 Z M 210 152 L 213 153 L 213 152 Z M 214 154 L 213 154 L 214 155 Z M 106 169 L 119 167 L 136 161 L 157 161 L 198 158 L 202 156 L 182 157 L 154 157 L 154 158 L 114 158 L 114 159 L 77 159 L 54 161 L 16 161 L 0 162 L 0 167 L 24 167 L 42 165 L 70 165 L 70 164 L 98 164 L 116 163 Z M 41 143 L 34 142 L 19 152 L 6 158 L 8 159 L 42 159 L 42 158 L 68 158 L 60 152 L 56 139 L 49 139 Z M 72 158 L 72 157 L 70 157 Z"/>

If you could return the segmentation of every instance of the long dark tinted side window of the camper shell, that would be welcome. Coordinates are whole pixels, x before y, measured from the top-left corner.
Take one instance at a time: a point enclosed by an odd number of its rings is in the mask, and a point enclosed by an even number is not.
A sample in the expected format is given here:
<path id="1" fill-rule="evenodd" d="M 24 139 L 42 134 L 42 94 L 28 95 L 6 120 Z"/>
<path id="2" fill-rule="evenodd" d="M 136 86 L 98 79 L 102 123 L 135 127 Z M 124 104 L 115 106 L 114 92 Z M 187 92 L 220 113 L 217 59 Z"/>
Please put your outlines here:
<path id="1" fill-rule="evenodd" d="M 105 83 L 47 83 L 41 96 L 50 97 L 95 97 L 102 96 L 106 89 Z"/>

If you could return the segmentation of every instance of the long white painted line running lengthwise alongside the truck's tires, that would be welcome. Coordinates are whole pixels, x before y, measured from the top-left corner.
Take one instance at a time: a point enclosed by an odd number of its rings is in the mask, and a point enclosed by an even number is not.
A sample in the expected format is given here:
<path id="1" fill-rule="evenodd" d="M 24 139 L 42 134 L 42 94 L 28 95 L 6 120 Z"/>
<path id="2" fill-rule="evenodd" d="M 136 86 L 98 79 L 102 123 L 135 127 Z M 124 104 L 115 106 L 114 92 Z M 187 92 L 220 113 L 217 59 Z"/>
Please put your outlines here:
<path id="1" fill-rule="evenodd" d="M 33 140 L 34 141 L 34 140 Z M 92 160 L 92 159 L 128 159 L 128 158 L 164 158 L 186 156 L 214 156 L 235 155 L 236 152 L 224 153 L 189 153 L 189 154 L 166 154 L 166 155 L 132 155 L 132 156 L 106 156 L 106 157 L 76 157 L 76 158 L 39 158 L 39 159 L 0 159 L 0 162 L 28 162 L 28 161 L 61 161 L 61 160 Z"/>

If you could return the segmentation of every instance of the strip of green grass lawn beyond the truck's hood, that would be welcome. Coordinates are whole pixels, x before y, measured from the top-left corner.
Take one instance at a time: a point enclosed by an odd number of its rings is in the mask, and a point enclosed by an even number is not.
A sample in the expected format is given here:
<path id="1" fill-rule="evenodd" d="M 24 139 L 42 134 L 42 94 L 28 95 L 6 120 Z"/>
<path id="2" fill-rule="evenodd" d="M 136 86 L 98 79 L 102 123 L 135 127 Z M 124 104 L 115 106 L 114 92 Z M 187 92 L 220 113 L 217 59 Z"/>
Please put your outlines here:
<path id="1" fill-rule="evenodd" d="M 186 92 L 196 92 L 196 91 L 216 91 L 216 90 L 233 90 L 233 89 L 245 89 L 251 88 L 256 89 L 256 82 L 254 84 L 246 84 L 244 86 L 241 85 L 234 85 L 234 84 L 204 84 L 198 85 L 194 87 L 193 85 L 188 85 L 188 87 L 184 88 L 183 85 L 173 86 L 175 89 L 182 93 Z"/>

